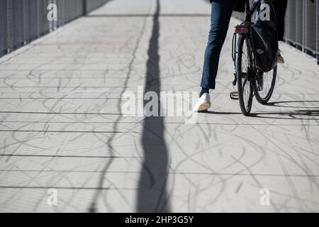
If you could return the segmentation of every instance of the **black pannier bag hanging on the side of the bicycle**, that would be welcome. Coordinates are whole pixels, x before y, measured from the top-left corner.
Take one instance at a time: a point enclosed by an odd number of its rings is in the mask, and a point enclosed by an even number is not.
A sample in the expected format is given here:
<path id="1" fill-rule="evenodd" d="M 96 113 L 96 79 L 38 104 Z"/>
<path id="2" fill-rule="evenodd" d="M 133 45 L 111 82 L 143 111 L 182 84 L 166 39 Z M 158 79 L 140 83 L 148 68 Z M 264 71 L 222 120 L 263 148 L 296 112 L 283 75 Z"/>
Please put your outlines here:
<path id="1" fill-rule="evenodd" d="M 278 52 L 278 31 L 277 16 L 274 6 L 270 0 L 261 0 L 260 12 L 255 18 L 254 25 L 250 28 L 252 37 L 252 48 L 257 66 L 262 72 L 269 72 L 277 64 Z M 263 4 L 268 4 L 270 9 L 268 17 L 265 20 L 265 10 Z M 263 9 L 264 8 L 264 9 Z M 270 19 L 270 20 L 269 20 Z"/>

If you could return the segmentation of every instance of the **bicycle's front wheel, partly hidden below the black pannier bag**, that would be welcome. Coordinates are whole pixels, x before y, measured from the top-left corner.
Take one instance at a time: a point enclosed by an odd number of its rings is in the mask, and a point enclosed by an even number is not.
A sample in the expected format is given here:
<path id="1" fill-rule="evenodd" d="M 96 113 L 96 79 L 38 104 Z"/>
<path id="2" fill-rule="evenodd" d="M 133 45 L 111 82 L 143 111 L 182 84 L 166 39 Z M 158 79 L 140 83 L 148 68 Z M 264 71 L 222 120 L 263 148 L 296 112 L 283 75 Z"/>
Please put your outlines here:
<path id="1" fill-rule="evenodd" d="M 259 71 L 259 70 L 258 70 Z M 267 104 L 276 84 L 277 67 L 269 72 L 257 72 L 254 94 L 260 104 Z"/>

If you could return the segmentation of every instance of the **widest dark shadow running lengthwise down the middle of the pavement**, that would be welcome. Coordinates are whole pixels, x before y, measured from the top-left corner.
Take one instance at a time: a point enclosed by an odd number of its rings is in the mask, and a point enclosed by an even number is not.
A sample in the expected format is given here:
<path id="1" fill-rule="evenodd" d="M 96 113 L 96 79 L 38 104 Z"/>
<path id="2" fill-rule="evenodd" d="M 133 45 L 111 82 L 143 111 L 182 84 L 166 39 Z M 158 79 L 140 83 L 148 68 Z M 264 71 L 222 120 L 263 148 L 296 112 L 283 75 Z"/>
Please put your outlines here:
<path id="1" fill-rule="evenodd" d="M 145 93 L 159 94 L 159 0 L 153 17 L 148 49 Z M 144 103 L 145 105 L 146 103 Z M 138 183 L 138 212 L 169 212 L 167 194 L 168 151 L 164 140 L 164 118 L 149 117 L 143 122 L 142 148 L 144 160 Z"/>

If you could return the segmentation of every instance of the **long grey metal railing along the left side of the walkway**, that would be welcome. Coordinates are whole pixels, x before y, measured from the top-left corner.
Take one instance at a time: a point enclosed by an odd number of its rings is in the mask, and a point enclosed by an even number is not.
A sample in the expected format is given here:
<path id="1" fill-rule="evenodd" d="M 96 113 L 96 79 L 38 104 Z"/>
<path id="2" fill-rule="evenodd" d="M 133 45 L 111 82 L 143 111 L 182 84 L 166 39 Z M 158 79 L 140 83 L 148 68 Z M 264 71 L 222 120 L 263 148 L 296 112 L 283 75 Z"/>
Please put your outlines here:
<path id="1" fill-rule="evenodd" d="M 0 57 L 109 0 L 0 0 Z M 47 6 L 57 5 L 57 21 L 48 21 Z"/>

